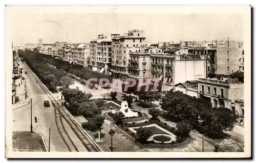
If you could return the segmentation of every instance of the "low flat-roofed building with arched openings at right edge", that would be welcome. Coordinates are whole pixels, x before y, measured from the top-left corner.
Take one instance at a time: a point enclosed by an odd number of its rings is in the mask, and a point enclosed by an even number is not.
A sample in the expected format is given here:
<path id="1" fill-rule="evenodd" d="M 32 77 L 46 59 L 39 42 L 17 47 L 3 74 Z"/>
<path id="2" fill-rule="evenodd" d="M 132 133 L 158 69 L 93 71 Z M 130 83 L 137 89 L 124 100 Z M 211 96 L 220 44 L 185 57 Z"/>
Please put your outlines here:
<path id="1" fill-rule="evenodd" d="M 236 72 L 230 77 L 199 78 L 198 98 L 211 101 L 213 107 L 227 107 L 233 114 L 244 116 L 244 76 Z"/>

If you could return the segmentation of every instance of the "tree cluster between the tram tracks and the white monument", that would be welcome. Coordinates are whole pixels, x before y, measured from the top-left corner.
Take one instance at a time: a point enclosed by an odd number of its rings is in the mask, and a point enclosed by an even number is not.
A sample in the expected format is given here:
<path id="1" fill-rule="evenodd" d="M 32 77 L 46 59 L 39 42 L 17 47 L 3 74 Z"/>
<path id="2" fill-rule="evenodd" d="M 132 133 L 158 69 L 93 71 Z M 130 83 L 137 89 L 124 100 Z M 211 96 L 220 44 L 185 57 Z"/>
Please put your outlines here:
<path id="1" fill-rule="evenodd" d="M 92 94 L 83 93 L 77 89 L 62 89 L 64 99 L 70 104 L 69 111 L 73 115 L 82 115 L 89 122 L 90 131 L 99 131 L 104 123 L 104 117 L 101 115 L 100 107 L 103 105 L 102 100 L 90 100 Z M 100 137 L 100 134 L 99 134 Z M 100 138 L 99 138 L 100 139 Z"/>

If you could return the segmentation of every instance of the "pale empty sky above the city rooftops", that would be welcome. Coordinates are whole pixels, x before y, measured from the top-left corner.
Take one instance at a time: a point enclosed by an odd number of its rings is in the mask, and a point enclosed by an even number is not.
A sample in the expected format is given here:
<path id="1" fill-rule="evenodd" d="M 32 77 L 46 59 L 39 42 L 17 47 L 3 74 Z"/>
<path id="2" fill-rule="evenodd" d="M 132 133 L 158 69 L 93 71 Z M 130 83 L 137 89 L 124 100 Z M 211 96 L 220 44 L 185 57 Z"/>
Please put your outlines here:
<path id="1" fill-rule="evenodd" d="M 129 30 L 145 31 L 150 42 L 181 40 L 243 41 L 243 15 L 234 13 L 168 13 L 168 12 L 77 12 L 63 8 L 9 10 L 13 43 L 67 41 L 89 43 L 97 34 L 125 34 Z M 88 8 L 84 7 L 84 10 Z M 9 22 L 8 21 L 8 22 Z"/>

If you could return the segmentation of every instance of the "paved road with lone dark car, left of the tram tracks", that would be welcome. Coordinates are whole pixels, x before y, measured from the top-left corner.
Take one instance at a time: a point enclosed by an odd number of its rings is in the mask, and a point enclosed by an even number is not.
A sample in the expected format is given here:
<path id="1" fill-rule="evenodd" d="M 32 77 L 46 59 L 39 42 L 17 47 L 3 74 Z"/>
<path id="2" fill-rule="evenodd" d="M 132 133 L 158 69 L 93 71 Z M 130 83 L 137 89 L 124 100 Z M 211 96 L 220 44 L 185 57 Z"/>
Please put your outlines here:
<path id="1" fill-rule="evenodd" d="M 23 63 L 19 62 L 19 65 L 23 68 L 23 76 L 27 78 L 27 92 L 29 98 L 32 98 L 33 130 L 42 134 L 48 147 L 49 127 L 51 127 L 51 151 L 69 151 L 57 129 L 54 107 L 52 107 L 52 105 L 51 107 L 44 107 L 44 100 L 50 99 L 36 83 L 36 80 Z M 25 71 L 28 71 L 28 74 L 25 74 Z M 35 123 L 34 116 L 37 117 L 37 123 Z M 13 131 L 30 131 L 30 105 L 20 107 L 13 111 Z"/>

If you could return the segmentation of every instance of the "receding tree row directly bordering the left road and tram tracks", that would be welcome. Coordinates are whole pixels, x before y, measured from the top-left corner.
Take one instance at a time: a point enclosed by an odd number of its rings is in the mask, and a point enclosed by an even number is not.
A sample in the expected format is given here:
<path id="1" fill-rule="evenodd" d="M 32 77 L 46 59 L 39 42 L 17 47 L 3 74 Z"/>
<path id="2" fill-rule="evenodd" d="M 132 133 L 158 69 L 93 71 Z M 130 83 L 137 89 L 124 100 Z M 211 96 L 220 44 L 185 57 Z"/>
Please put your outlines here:
<path id="1" fill-rule="evenodd" d="M 53 92 L 60 86 L 60 78 L 65 75 L 63 71 L 49 66 L 42 58 L 39 58 L 35 52 L 25 49 L 18 50 L 19 57 L 22 57 L 27 65 L 40 80 Z"/>

